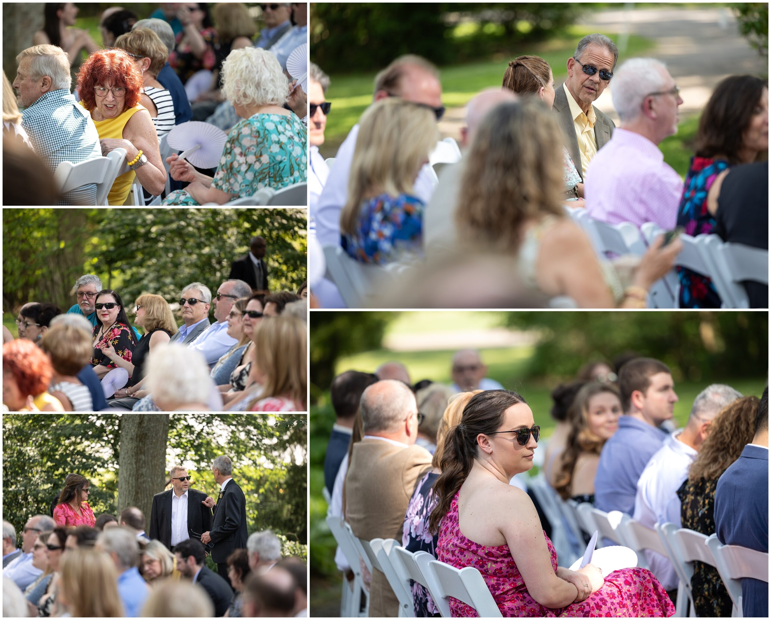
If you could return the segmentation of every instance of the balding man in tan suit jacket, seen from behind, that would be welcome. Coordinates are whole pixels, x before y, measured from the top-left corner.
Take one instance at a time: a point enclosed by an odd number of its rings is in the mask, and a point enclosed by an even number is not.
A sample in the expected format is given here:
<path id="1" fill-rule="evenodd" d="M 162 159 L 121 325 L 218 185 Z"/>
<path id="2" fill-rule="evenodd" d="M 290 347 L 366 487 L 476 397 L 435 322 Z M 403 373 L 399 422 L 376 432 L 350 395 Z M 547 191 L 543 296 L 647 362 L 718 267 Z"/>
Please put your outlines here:
<path id="1" fill-rule="evenodd" d="M 364 439 L 353 446 L 345 477 L 346 519 L 356 537 L 402 540 L 407 504 L 431 469 L 431 454 L 416 446 L 418 405 L 401 381 L 388 379 L 364 390 L 359 405 Z M 399 614 L 399 600 L 385 575 L 372 571 L 369 617 Z"/>

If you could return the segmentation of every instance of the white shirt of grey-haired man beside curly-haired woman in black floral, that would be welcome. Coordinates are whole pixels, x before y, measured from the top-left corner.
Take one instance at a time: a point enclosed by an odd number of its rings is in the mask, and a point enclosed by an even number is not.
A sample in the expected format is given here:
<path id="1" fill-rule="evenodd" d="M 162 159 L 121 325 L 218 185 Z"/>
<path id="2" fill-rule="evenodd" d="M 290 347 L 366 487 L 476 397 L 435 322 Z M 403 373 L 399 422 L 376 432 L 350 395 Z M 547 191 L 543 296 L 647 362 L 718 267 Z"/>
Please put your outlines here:
<path id="1" fill-rule="evenodd" d="M 680 527 L 680 498 L 677 490 L 688 477 L 688 469 L 696 458 L 696 450 L 678 440 L 679 430 L 668 436 L 653 454 L 637 483 L 635 514 L 638 523 L 654 529 L 657 523 L 674 523 Z M 665 555 L 645 551 L 651 572 L 665 590 L 678 587 L 678 577 L 672 562 Z"/>

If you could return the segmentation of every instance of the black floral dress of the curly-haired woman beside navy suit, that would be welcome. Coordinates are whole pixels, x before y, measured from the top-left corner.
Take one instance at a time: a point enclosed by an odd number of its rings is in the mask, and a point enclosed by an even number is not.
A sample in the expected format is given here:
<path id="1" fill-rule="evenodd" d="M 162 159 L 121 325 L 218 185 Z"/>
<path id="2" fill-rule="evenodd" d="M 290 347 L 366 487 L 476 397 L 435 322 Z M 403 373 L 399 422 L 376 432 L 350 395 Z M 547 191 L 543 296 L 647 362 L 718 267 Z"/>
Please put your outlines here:
<path id="1" fill-rule="evenodd" d="M 715 489 L 719 476 L 691 483 L 685 480 L 677 490 L 680 498 L 682 527 L 711 536 L 715 534 Z M 693 601 L 699 618 L 730 618 L 731 597 L 717 568 L 704 562 L 693 563 L 691 578 Z"/>

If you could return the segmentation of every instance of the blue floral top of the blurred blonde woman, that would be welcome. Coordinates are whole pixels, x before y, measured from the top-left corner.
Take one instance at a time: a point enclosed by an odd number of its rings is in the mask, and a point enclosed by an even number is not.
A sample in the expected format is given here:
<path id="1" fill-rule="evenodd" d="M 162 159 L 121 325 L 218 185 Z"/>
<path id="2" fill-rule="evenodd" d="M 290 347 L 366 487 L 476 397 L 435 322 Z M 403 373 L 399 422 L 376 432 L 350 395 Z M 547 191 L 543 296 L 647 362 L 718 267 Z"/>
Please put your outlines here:
<path id="1" fill-rule="evenodd" d="M 342 237 L 348 255 L 362 263 L 386 265 L 402 254 L 422 253 L 425 204 L 409 194 L 380 194 L 359 211 L 355 234 Z"/>

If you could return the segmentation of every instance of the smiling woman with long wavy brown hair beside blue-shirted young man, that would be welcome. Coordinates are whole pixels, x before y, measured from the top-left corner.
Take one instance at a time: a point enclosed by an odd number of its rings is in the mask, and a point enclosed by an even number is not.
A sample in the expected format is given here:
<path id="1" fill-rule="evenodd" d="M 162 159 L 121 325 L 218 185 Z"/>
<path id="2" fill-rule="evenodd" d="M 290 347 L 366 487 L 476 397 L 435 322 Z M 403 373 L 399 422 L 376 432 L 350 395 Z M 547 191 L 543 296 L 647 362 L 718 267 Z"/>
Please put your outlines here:
<path id="1" fill-rule="evenodd" d="M 594 504 L 600 451 L 618 430 L 621 413 L 621 395 L 612 383 L 591 382 L 578 391 L 571 407 L 573 427 L 552 481 L 562 499 L 573 497 Z"/>

